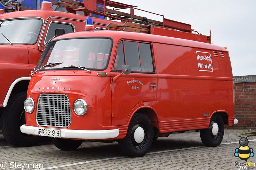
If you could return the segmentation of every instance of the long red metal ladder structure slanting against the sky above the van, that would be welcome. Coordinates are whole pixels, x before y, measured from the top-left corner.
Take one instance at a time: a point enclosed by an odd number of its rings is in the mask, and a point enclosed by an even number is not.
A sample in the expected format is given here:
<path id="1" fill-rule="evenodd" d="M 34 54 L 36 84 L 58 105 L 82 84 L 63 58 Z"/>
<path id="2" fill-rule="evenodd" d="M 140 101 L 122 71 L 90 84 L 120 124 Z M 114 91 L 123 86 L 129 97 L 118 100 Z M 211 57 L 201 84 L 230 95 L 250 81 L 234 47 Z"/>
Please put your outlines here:
<path id="1" fill-rule="evenodd" d="M 84 0 L 84 2 L 85 1 L 86 0 Z M 84 11 L 88 14 L 96 14 L 96 15 L 108 17 L 110 18 L 110 20 L 117 19 L 117 20 L 127 21 L 127 22 L 151 23 L 157 27 L 175 29 L 175 30 L 180 30 L 188 33 L 192 33 L 193 31 L 193 29 L 191 29 L 191 25 L 189 24 L 166 19 L 164 18 L 163 15 L 141 10 L 136 8 L 136 6 L 118 3 L 110 0 L 90 0 L 89 3 L 83 3 L 76 0 L 60 0 L 58 2 L 52 1 L 52 4 L 66 7 L 67 11 L 71 13 L 76 13 L 76 11 Z M 97 4 L 100 4 L 103 7 L 97 6 Z M 110 8 L 113 8 L 113 9 L 110 9 Z M 122 9 L 129 9 L 130 13 L 120 11 Z M 134 9 L 161 16 L 163 20 L 156 21 L 153 19 L 148 19 L 146 17 L 134 15 Z"/>

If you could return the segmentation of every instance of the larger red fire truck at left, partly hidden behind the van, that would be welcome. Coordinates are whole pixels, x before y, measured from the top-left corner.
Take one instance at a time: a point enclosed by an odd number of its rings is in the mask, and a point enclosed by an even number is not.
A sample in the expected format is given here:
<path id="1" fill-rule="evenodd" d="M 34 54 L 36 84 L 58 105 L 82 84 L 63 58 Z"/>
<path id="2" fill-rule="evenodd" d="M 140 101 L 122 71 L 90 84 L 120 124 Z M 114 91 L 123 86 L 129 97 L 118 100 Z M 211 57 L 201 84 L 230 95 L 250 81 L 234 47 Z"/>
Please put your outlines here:
<path id="1" fill-rule="evenodd" d="M 66 2 L 53 3 L 60 3 L 69 11 L 76 6 Z M 24 11 L 17 11 L 18 9 Z M 28 10 L 14 4 L 0 5 L 0 13 L 1 129 L 10 144 L 35 145 L 37 137 L 20 132 L 20 126 L 25 123 L 23 103 L 30 80 L 29 74 L 36 67 L 47 42 L 60 34 L 84 31 L 87 16 L 75 12 L 53 11 L 50 2 L 43 2 L 40 10 Z M 94 25 L 98 27 L 96 29 L 104 29 L 108 23 L 106 19 L 94 19 Z"/>

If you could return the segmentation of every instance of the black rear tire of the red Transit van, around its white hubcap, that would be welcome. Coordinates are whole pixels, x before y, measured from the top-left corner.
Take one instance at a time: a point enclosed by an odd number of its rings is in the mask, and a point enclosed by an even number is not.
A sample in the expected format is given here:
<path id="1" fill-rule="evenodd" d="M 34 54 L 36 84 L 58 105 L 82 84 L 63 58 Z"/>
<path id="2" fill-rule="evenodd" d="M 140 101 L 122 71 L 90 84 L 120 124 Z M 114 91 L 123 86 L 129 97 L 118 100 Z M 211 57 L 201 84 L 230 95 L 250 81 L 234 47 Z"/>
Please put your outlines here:
<path id="1" fill-rule="evenodd" d="M 219 128 L 218 133 L 216 135 L 213 135 L 212 129 L 200 130 L 200 138 L 203 144 L 208 147 L 219 146 L 224 135 L 224 121 L 220 114 L 212 115 L 210 126 L 212 126 L 213 123 L 217 123 Z"/>

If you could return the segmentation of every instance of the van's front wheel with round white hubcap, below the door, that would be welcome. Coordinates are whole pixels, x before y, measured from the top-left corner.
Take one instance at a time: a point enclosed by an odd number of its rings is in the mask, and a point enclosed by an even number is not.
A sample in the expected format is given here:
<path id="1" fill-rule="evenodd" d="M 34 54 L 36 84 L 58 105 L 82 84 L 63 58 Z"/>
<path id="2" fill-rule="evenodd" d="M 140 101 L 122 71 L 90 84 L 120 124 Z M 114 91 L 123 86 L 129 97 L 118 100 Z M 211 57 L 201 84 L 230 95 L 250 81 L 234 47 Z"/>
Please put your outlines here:
<path id="1" fill-rule="evenodd" d="M 144 156 L 153 142 L 154 131 L 152 122 L 144 113 L 136 113 L 128 126 L 124 139 L 118 144 L 122 152 L 129 157 Z"/>

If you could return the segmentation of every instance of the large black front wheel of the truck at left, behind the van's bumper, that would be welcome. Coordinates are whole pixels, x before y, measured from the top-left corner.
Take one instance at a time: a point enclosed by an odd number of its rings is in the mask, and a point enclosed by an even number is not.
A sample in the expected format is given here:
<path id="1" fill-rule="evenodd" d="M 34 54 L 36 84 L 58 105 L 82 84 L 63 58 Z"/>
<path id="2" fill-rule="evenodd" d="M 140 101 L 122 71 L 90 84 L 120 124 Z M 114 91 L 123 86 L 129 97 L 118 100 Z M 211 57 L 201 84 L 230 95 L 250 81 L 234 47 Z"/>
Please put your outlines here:
<path id="1" fill-rule="evenodd" d="M 4 138 L 10 144 L 17 147 L 34 146 L 39 143 L 40 137 L 24 134 L 20 126 L 25 124 L 24 101 L 27 92 L 13 95 L 8 105 L 3 108 L 1 114 L 1 129 Z"/>

